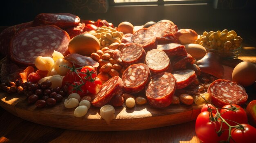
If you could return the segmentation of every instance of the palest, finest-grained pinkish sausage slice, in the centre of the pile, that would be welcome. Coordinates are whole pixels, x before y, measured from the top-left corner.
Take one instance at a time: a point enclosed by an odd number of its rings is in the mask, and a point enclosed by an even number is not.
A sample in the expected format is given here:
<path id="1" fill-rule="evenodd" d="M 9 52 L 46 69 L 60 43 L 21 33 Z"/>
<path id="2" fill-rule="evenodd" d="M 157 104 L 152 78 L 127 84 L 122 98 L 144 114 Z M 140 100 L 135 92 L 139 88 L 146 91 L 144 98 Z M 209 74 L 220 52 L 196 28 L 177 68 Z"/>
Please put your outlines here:
<path id="1" fill-rule="evenodd" d="M 169 57 L 159 49 L 153 49 L 146 54 L 145 64 L 152 73 L 171 72 L 172 70 Z"/>

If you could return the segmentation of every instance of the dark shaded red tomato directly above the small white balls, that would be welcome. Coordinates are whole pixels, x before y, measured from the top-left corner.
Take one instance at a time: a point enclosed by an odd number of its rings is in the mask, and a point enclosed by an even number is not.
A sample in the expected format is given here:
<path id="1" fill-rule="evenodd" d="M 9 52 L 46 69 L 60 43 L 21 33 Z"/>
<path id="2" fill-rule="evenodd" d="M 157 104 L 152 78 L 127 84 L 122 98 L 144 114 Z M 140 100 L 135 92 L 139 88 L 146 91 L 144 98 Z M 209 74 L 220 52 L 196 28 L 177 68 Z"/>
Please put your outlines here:
<path id="1" fill-rule="evenodd" d="M 75 81 L 72 84 L 69 84 L 68 86 L 68 94 L 70 95 L 71 93 L 77 93 L 80 95 L 80 97 L 84 97 L 86 95 L 86 86 L 85 84 L 82 84 L 80 81 Z"/>

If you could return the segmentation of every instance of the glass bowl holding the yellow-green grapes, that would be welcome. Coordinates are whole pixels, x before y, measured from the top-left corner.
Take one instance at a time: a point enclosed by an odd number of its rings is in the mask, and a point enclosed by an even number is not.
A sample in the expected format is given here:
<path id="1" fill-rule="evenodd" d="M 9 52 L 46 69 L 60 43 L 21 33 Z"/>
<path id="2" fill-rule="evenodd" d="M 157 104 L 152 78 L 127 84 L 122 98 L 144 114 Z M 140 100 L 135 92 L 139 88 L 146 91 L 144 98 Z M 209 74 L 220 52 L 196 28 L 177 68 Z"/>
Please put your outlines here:
<path id="1" fill-rule="evenodd" d="M 216 50 L 216 49 L 209 49 L 205 48 L 207 52 L 213 52 L 222 59 L 237 59 L 239 54 L 241 53 L 242 46 L 236 48 L 234 50 Z"/>

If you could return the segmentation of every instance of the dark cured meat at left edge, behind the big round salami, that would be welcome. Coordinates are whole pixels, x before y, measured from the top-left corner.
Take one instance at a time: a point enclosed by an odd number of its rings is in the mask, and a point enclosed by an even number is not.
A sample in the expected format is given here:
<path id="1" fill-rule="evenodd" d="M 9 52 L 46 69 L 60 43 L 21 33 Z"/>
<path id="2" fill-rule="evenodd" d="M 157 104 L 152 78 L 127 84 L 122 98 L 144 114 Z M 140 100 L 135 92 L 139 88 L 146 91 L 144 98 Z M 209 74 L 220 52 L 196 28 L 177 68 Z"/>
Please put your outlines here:
<path id="1" fill-rule="evenodd" d="M 10 47 L 10 41 L 13 35 L 15 35 L 21 29 L 32 27 L 33 22 L 26 22 L 22 24 L 17 24 L 14 26 L 7 27 L 0 33 L 0 56 L 6 56 L 8 54 L 8 49 Z"/>

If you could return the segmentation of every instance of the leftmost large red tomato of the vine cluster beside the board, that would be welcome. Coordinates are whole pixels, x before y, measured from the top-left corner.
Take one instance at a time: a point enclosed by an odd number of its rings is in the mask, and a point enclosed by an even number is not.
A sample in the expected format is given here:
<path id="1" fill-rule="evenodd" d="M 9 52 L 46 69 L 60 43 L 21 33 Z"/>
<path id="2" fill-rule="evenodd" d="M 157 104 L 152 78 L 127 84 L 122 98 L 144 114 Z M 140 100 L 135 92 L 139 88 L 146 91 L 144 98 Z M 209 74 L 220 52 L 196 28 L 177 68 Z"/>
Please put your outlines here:
<path id="1" fill-rule="evenodd" d="M 214 117 L 215 114 L 213 114 Z M 218 136 L 216 132 L 220 130 L 221 122 L 211 121 L 210 112 L 201 112 L 195 121 L 195 133 L 204 143 L 217 143 L 218 141 L 225 141 L 227 136 L 222 134 Z"/>

